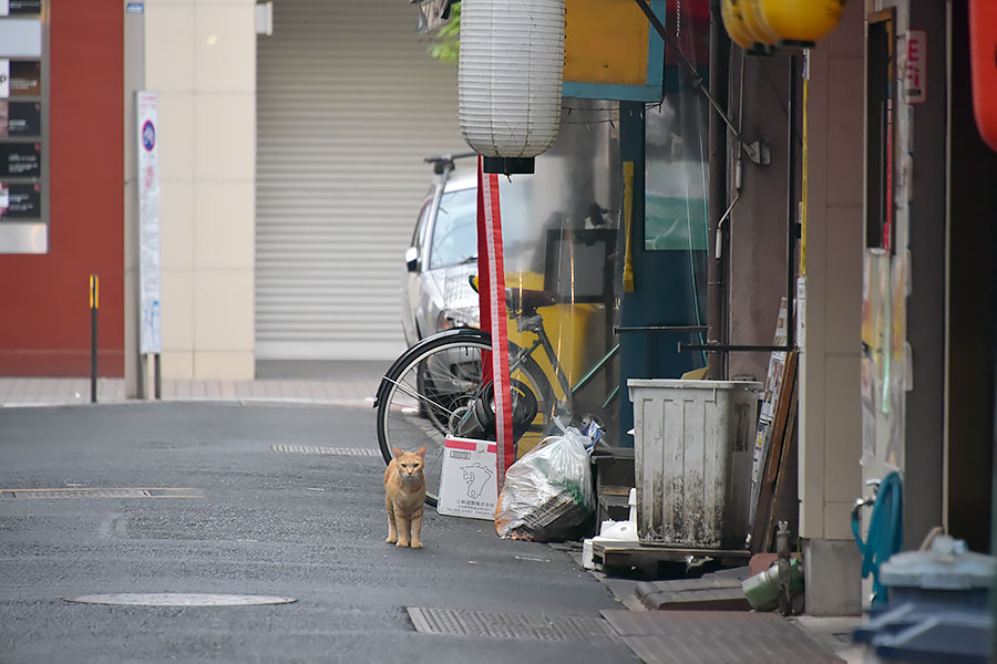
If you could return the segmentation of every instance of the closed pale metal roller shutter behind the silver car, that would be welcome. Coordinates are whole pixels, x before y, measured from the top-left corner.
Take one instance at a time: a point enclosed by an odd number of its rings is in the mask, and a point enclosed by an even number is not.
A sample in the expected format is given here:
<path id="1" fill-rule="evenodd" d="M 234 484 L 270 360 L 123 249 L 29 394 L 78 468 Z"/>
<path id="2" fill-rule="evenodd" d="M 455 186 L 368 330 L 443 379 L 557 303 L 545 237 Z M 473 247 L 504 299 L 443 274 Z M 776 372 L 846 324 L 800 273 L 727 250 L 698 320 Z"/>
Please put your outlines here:
<path id="1" fill-rule="evenodd" d="M 431 169 L 467 149 L 456 69 L 402 0 L 277 0 L 258 39 L 256 356 L 389 359 Z"/>

